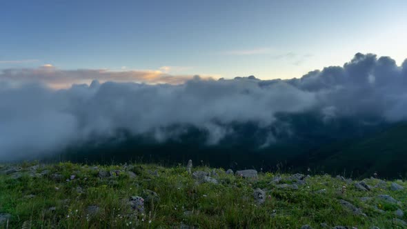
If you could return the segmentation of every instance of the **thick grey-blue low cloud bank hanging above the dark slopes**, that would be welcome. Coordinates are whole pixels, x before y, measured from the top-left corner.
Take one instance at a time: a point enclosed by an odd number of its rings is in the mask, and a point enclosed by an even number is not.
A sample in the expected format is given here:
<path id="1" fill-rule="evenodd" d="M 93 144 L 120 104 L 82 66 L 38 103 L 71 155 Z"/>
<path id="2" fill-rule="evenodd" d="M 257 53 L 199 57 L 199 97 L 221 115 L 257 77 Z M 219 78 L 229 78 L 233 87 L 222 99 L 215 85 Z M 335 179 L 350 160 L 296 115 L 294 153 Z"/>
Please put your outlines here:
<path id="1" fill-rule="evenodd" d="M 115 137 L 118 130 L 132 135 L 148 133 L 157 141 L 166 141 L 177 135 L 169 127 L 190 125 L 206 130 L 207 143 L 215 144 L 230 134 L 229 123 L 254 122 L 266 128 L 279 113 L 314 112 L 324 121 L 375 117 L 393 122 L 407 117 L 407 61 L 397 66 L 393 59 L 377 59 L 374 54 L 358 53 L 343 67 L 289 80 L 120 76 L 99 70 L 3 70 L 0 160 L 57 152 Z M 46 86 L 72 79 L 107 82 L 62 90 Z M 112 82 L 115 79 L 166 84 Z M 259 147 L 274 141 L 270 134 Z"/>

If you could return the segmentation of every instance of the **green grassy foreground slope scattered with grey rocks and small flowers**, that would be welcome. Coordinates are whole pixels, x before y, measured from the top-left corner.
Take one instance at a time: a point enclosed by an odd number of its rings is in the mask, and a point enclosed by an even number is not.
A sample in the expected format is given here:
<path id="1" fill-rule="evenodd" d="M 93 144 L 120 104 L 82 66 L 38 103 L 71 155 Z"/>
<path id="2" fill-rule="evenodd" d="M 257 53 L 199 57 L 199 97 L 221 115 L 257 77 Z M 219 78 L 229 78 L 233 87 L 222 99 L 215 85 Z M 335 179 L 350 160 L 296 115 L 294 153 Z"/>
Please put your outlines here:
<path id="1" fill-rule="evenodd" d="M 0 165 L 0 228 L 407 228 L 407 183 L 187 165 Z"/>

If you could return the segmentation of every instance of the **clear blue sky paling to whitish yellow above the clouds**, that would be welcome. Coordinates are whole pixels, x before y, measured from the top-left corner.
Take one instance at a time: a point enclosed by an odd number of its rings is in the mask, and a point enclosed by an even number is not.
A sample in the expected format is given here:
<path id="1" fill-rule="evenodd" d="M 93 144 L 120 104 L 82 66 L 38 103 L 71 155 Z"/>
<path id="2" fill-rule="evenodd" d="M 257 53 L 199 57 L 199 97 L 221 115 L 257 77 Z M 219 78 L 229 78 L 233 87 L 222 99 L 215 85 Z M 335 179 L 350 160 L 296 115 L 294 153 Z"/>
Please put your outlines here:
<path id="1" fill-rule="evenodd" d="M 301 77 L 407 57 L 407 1 L 1 1 L 0 69 Z"/>

